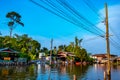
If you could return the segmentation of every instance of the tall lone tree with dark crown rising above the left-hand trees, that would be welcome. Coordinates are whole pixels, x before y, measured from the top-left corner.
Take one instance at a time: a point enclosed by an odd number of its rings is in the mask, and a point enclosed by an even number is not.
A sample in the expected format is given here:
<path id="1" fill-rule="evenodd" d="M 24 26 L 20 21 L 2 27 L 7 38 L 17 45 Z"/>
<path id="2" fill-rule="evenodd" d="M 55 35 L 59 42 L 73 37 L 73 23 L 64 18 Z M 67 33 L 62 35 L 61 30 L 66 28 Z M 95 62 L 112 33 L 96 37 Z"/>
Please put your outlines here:
<path id="1" fill-rule="evenodd" d="M 21 16 L 17 12 L 12 11 L 7 13 L 6 18 L 10 19 L 8 22 L 8 27 L 10 29 L 10 37 L 12 37 L 12 31 L 16 25 L 20 24 L 21 26 L 24 26 L 24 24 L 21 22 Z"/>

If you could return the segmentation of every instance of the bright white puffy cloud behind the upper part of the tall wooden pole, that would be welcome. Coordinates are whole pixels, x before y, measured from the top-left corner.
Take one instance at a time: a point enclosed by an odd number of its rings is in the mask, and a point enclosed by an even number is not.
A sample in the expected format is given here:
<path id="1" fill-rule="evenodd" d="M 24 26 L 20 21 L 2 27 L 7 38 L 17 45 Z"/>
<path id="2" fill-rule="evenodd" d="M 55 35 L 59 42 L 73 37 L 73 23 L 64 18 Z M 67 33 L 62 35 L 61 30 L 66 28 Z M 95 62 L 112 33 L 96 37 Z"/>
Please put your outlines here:
<path id="1" fill-rule="evenodd" d="M 113 6 L 108 7 L 109 30 L 110 30 L 110 34 L 112 34 L 114 38 L 116 35 L 120 34 L 120 31 L 119 31 L 120 11 L 119 9 L 120 9 L 120 5 L 113 5 Z M 100 13 L 102 15 L 105 15 L 105 10 L 101 9 Z M 105 31 L 105 25 L 103 23 L 99 23 L 97 26 Z"/>

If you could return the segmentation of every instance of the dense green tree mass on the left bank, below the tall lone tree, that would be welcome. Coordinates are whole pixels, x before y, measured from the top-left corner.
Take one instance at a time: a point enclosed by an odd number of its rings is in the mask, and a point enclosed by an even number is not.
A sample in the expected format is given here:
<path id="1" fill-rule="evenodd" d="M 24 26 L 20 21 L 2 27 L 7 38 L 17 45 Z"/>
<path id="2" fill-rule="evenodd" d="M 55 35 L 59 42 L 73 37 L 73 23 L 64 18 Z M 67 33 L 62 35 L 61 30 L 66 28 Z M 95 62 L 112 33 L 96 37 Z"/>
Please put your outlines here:
<path id="1" fill-rule="evenodd" d="M 24 34 L 22 36 L 15 34 L 12 38 L 9 36 L 0 37 L 0 48 L 9 47 L 20 52 L 20 57 L 27 57 L 30 59 L 36 59 L 40 52 L 40 43 L 28 35 Z"/>

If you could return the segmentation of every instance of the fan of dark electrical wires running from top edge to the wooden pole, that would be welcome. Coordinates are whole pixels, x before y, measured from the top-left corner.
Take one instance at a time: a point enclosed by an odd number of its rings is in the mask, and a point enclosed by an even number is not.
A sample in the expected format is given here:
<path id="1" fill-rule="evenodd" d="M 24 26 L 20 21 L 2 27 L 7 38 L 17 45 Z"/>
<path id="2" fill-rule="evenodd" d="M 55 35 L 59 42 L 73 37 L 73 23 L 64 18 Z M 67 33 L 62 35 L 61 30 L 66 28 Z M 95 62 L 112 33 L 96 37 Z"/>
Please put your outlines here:
<path id="1" fill-rule="evenodd" d="M 34 4 L 36 4 L 37 6 L 44 8 L 45 10 L 49 11 L 50 13 L 76 25 L 79 28 L 82 27 L 83 29 L 85 29 L 85 30 L 87 30 L 95 35 L 99 35 L 99 36 L 103 37 L 104 31 L 100 30 L 93 23 L 88 21 L 84 16 L 82 16 L 76 9 L 74 9 L 66 1 L 56 0 L 56 2 L 59 4 L 58 5 L 57 3 L 55 3 L 51 0 L 40 0 L 42 3 L 44 3 L 48 7 L 45 7 L 45 6 L 41 5 L 40 3 L 35 2 L 33 0 L 30 0 L 30 1 Z M 89 5 L 89 4 L 87 3 L 87 5 Z M 96 12 L 96 11 L 94 10 L 94 12 Z M 110 42 L 116 49 L 120 48 L 119 45 L 116 45 L 118 43 L 116 43 L 111 38 L 110 38 Z"/>

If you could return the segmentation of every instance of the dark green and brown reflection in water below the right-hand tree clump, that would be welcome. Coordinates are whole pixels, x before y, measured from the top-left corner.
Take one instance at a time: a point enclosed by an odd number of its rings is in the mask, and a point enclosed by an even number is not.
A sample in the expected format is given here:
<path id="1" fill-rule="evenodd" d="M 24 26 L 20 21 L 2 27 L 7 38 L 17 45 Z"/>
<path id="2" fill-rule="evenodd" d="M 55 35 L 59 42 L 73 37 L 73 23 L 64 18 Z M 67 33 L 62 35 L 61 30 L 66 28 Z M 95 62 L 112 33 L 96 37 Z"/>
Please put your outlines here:
<path id="1" fill-rule="evenodd" d="M 55 75 L 58 75 L 57 80 L 61 80 L 63 75 L 69 77 L 69 79 L 73 79 L 73 75 L 76 75 L 77 79 L 81 79 L 87 73 L 88 68 L 88 65 L 57 65 L 57 73 Z"/>

